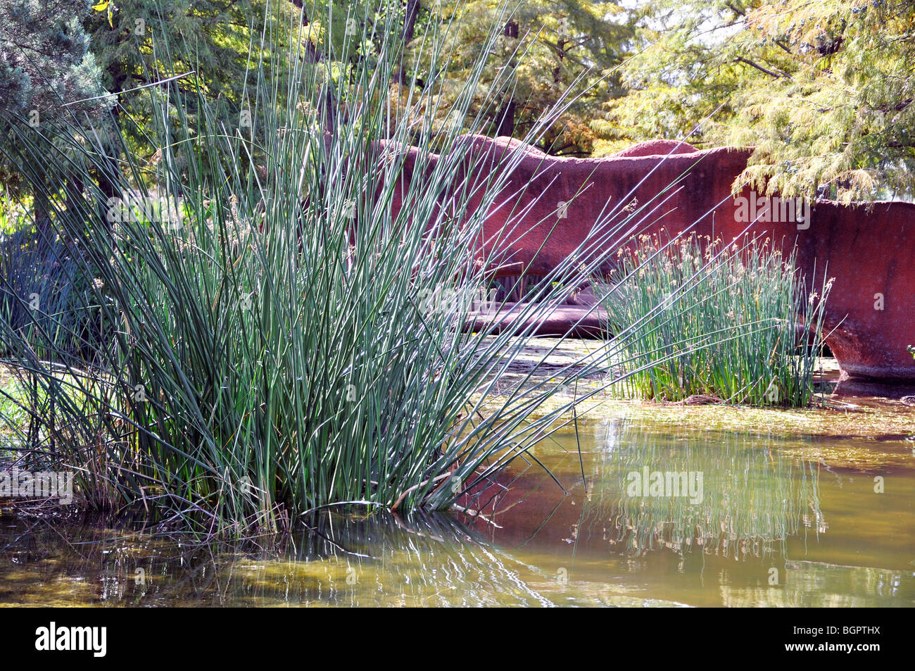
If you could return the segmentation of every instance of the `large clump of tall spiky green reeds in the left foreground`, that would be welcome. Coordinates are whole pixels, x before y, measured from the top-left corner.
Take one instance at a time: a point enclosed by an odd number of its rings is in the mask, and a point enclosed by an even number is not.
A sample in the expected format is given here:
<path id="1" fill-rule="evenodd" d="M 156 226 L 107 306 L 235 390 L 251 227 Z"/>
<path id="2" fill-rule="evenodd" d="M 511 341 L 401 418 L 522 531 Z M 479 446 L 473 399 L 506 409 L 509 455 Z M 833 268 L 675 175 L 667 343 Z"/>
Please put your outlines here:
<path id="1" fill-rule="evenodd" d="M 400 5 L 385 6 L 353 24 L 319 3 L 291 34 L 287 16 L 277 21 L 282 39 L 253 50 L 238 125 L 222 124 L 192 80 L 152 87 L 154 124 L 137 131 L 159 149 L 135 156 L 115 133 L 123 169 L 79 119 L 40 134 L 10 123 L 23 148 L 7 158 L 33 189 L 48 189 L 48 157 L 86 185 L 65 204 L 44 195 L 74 273 L 97 280 L 74 300 L 100 334 L 68 333 L 85 345 L 74 353 L 40 326 L 41 308 L 25 325 L 0 323 L 0 363 L 33 390 L 10 395 L 17 412 L 2 419 L 24 459 L 76 471 L 86 503 L 206 533 L 275 529 L 339 504 L 442 509 L 574 406 L 533 413 L 573 366 L 552 384 L 497 384 L 533 328 L 464 328 L 501 262 L 479 250 L 483 217 L 520 157 L 507 152 L 481 187 L 461 181 L 476 160 L 461 134 L 487 123 L 467 111 L 488 49 L 450 110 L 438 76 L 393 103 L 406 55 Z M 328 28 L 341 21 L 359 29 Z M 484 47 L 498 34 L 481 35 Z M 179 48 L 156 42 L 166 61 Z M 266 76 L 264 55 L 282 49 L 287 70 Z M 434 22 L 414 49 L 433 72 L 447 63 Z M 490 87 L 484 110 L 496 113 L 505 86 Z M 413 171 L 425 176 L 409 184 L 405 145 L 419 146 Z M 517 323 L 542 319 L 564 296 L 556 280 L 584 282 L 601 260 L 556 268 Z"/>

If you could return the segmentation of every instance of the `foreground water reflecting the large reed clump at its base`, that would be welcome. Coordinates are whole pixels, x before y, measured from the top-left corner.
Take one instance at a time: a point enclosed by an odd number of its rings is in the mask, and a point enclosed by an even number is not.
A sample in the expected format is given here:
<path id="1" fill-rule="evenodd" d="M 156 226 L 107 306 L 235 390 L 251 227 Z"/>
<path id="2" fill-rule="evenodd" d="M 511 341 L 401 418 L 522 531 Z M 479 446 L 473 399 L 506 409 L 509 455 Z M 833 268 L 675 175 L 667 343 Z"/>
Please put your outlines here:
<path id="1" fill-rule="evenodd" d="M 259 552 L 5 522 L 0 604 L 550 604 L 519 578 L 517 561 L 447 515 L 324 514 L 287 547 Z"/>

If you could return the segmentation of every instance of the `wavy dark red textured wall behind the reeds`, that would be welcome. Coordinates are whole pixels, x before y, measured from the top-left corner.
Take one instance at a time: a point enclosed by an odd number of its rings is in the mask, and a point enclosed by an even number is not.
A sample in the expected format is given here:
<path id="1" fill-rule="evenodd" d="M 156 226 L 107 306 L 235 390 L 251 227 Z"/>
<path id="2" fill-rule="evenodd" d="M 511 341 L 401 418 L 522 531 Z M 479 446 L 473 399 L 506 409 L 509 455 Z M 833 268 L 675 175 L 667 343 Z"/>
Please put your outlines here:
<path id="1" fill-rule="evenodd" d="M 827 327 L 839 326 L 827 342 L 844 373 L 915 380 L 915 361 L 906 352 L 915 345 L 915 205 L 818 201 L 809 222 L 752 223 L 752 215 L 737 221 L 731 185 L 747 164 L 748 148 L 699 151 L 655 140 L 613 157 L 563 158 L 509 138 L 468 135 L 462 141 L 469 151 L 458 184 L 466 176 L 481 186 L 506 156 L 514 161 L 480 241 L 500 265 L 544 275 L 570 254 L 585 260 L 612 253 L 632 233 L 661 228 L 690 228 L 726 242 L 744 233 L 766 235 L 785 251 L 797 244 L 798 265 L 813 287 L 822 285 L 824 269 L 834 277 Z M 410 151 L 404 183 L 414 178 L 416 150 Z M 749 189 L 741 195 L 752 196 Z M 470 199 L 471 209 L 479 205 L 479 196 Z M 630 216 L 627 206 L 636 214 L 619 228 Z M 583 249 L 589 241 L 596 244 Z"/>

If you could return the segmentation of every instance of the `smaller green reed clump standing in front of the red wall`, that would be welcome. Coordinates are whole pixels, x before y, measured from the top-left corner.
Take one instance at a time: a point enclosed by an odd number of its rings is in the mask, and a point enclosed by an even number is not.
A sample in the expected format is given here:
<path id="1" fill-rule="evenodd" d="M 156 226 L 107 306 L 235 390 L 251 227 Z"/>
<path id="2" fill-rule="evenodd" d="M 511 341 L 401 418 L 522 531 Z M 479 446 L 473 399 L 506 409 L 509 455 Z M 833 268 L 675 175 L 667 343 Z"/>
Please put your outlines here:
<path id="1" fill-rule="evenodd" d="M 808 291 L 768 240 L 741 244 L 641 235 L 618 253 L 607 287 L 622 394 L 662 401 L 806 406 L 823 348 L 829 284 Z"/>

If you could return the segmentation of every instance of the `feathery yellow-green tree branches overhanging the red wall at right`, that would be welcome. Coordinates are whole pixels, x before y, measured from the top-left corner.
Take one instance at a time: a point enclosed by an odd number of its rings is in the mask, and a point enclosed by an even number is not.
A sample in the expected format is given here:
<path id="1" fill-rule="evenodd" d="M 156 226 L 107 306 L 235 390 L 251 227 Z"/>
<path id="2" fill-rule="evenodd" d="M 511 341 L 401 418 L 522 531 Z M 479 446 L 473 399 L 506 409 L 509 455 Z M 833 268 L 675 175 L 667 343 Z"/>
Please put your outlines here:
<path id="1" fill-rule="evenodd" d="M 607 135 L 755 146 L 735 184 L 767 192 L 911 197 L 913 29 L 911 3 L 657 0 Z"/>

